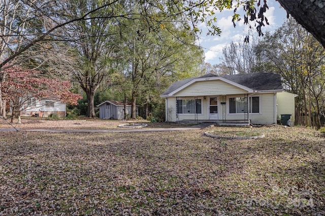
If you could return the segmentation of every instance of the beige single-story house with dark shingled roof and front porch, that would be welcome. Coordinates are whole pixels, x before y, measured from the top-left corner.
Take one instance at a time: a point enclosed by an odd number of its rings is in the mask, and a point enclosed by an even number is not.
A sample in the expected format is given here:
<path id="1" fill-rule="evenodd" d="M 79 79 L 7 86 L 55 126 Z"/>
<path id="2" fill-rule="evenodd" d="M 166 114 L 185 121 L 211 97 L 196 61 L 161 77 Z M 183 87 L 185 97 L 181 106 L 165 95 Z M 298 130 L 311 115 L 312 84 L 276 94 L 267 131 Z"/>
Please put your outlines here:
<path id="1" fill-rule="evenodd" d="M 279 74 L 259 72 L 187 78 L 160 97 L 166 100 L 166 121 L 273 124 L 287 114 L 293 125 L 296 96 L 283 91 Z"/>

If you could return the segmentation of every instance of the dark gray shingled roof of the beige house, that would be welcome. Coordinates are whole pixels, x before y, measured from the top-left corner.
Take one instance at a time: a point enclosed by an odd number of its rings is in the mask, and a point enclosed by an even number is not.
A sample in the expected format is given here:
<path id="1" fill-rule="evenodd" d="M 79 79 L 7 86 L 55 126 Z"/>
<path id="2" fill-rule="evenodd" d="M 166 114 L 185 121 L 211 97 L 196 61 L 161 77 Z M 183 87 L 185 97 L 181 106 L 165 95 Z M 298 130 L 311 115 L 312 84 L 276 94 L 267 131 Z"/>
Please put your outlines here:
<path id="1" fill-rule="evenodd" d="M 193 79 L 215 77 L 215 76 L 218 75 L 209 73 L 200 77 L 191 77 L 191 78 L 174 82 L 161 96 L 167 96 L 168 94 L 172 93 L 173 91 L 177 90 L 178 88 L 182 87 L 183 85 L 192 81 Z M 225 75 L 220 77 L 236 82 L 254 91 L 282 90 L 281 77 L 279 74 L 275 74 L 275 73 L 258 72 L 258 73 Z"/>

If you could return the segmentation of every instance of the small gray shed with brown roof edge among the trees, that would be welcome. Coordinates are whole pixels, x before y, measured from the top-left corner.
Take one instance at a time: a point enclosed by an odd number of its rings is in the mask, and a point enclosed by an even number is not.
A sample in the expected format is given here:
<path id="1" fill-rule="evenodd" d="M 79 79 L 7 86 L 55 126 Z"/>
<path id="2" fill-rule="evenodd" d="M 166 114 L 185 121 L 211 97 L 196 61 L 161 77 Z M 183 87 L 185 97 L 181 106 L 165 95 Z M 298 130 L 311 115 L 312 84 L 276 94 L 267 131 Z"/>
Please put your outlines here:
<path id="1" fill-rule="evenodd" d="M 104 101 L 97 105 L 100 109 L 101 119 L 124 119 L 124 102 L 122 101 Z M 126 102 L 126 115 L 131 115 L 131 103 Z M 138 107 L 136 106 L 136 115 L 138 115 Z"/>

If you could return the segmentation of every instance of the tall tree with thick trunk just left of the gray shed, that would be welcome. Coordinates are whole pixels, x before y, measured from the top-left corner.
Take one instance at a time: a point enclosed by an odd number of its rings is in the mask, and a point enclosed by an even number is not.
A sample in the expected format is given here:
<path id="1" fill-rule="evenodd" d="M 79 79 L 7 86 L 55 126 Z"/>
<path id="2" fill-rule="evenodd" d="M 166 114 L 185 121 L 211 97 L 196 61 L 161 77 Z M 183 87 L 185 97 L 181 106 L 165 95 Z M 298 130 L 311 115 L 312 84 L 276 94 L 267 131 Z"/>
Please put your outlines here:
<path id="1" fill-rule="evenodd" d="M 70 1 L 67 13 L 80 17 L 88 10 L 100 7 L 101 1 L 75 0 Z M 72 70 L 76 80 L 87 96 L 87 117 L 95 117 L 94 96 L 101 83 L 105 81 L 111 71 L 115 55 L 114 44 L 115 27 L 113 19 L 95 19 L 114 14 L 112 8 L 89 14 L 89 19 L 76 21 L 70 27 L 70 46 L 75 50 L 76 68 Z"/>

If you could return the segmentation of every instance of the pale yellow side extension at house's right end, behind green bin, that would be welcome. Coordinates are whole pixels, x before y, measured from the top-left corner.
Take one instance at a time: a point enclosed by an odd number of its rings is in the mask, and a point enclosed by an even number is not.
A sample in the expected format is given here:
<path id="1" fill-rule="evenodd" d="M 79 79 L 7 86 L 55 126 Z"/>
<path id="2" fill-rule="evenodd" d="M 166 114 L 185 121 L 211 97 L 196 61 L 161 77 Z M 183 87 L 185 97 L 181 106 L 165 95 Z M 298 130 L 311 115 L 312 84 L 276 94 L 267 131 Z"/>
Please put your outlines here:
<path id="1" fill-rule="evenodd" d="M 281 92 L 277 94 L 277 119 L 281 114 L 291 114 L 291 122 L 295 122 L 295 94 Z"/>

